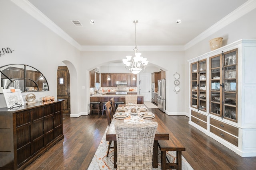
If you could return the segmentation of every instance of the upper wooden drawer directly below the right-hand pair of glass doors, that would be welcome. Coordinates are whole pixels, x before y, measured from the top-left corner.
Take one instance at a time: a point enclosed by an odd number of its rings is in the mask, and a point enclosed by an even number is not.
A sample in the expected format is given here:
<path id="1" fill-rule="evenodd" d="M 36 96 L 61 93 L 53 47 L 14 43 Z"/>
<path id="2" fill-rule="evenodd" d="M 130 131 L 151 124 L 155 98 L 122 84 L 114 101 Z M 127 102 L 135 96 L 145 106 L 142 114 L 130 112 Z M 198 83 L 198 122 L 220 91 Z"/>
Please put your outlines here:
<path id="1" fill-rule="evenodd" d="M 227 123 L 224 123 L 222 121 L 218 121 L 218 120 L 212 119 L 212 118 L 210 118 L 210 124 L 238 137 L 238 128 L 237 127 L 228 125 Z"/>

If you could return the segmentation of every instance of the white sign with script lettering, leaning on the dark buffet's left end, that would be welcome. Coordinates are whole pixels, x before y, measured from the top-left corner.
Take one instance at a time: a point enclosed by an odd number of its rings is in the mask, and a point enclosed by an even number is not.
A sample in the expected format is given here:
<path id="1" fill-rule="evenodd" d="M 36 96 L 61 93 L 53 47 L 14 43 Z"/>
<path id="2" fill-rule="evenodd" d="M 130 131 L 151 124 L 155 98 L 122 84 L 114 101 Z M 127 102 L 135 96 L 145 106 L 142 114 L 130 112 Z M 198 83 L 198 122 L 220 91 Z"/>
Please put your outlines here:
<path id="1" fill-rule="evenodd" d="M 20 89 L 3 89 L 8 109 L 24 105 Z"/>

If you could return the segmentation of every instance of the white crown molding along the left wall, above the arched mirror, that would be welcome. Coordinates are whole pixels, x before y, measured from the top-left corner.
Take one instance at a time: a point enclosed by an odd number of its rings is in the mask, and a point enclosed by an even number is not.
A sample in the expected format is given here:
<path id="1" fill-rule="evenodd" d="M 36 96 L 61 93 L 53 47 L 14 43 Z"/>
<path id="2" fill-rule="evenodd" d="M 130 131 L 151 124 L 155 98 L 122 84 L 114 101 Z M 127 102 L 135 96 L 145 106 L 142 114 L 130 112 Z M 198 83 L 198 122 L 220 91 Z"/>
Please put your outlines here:
<path id="1" fill-rule="evenodd" d="M 40 10 L 38 10 L 34 5 L 32 5 L 28 0 L 11 0 L 14 4 L 20 7 L 22 10 L 30 14 L 36 20 L 41 22 L 43 25 L 48 27 L 54 33 L 68 41 L 71 45 L 76 47 L 78 50 L 81 49 L 81 45 L 77 43 L 72 37 L 70 37 L 65 31 L 63 31 L 58 25 L 56 25 L 52 20 L 45 16 Z"/>

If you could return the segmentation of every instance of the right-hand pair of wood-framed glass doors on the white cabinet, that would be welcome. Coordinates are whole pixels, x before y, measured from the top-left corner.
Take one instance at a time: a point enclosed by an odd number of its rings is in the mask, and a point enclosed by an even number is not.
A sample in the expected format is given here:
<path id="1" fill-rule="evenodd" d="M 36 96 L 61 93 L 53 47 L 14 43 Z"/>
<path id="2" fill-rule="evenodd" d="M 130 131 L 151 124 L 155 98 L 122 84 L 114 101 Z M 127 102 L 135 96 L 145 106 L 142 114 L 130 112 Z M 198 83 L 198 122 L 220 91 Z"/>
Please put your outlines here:
<path id="1" fill-rule="evenodd" d="M 210 113 L 237 122 L 237 49 L 210 57 Z"/>

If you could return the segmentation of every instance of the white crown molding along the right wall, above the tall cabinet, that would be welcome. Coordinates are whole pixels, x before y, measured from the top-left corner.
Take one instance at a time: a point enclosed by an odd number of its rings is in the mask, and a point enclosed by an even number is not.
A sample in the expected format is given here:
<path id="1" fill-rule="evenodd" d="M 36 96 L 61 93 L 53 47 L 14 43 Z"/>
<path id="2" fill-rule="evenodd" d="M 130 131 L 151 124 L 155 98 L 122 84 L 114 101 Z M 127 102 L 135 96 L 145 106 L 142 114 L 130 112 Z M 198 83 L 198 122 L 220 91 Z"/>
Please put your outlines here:
<path id="1" fill-rule="evenodd" d="M 206 29 L 204 32 L 200 33 L 198 36 L 196 36 L 194 39 L 189 41 L 184 45 L 184 50 L 189 49 L 190 47 L 196 45 L 203 39 L 206 39 L 213 33 L 216 33 L 220 29 L 224 28 L 226 25 L 232 23 L 233 21 L 237 20 L 238 18 L 244 16 L 248 12 L 254 10 L 256 8 L 256 0 L 248 0 L 244 4 L 242 4 L 240 7 L 236 8 L 233 12 L 222 18 L 220 21 Z"/>

